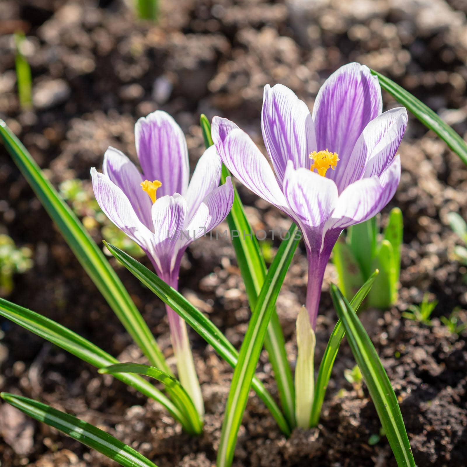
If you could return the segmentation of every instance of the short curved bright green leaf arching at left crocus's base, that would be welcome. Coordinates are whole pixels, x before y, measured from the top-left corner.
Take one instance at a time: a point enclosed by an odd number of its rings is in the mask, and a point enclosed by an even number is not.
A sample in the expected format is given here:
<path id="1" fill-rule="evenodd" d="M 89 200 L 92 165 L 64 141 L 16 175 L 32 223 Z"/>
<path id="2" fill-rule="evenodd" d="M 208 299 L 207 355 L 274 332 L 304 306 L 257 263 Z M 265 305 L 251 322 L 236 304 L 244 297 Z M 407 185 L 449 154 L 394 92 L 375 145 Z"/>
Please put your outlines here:
<path id="1" fill-rule="evenodd" d="M 140 363 L 117 363 L 110 367 L 100 368 L 99 373 L 110 375 L 119 373 L 135 373 L 137 375 L 146 375 L 162 382 L 172 400 L 178 402 L 177 406 L 185 408 L 186 414 L 196 433 L 199 434 L 203 431 L 203 421 L 199 417 L 195 404 L 180 382 L 173 376 L 164 373 L 156 367 L 141 365 Z"/>

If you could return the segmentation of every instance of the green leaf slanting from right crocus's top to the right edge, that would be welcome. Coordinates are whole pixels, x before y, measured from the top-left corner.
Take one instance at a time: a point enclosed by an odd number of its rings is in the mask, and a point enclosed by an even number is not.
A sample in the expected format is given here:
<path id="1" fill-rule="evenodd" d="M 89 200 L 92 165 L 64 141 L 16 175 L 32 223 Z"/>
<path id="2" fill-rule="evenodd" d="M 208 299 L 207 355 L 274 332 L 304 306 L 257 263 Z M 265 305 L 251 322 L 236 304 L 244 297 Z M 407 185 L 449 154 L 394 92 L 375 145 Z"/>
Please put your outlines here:
<path id="1" fill-rule="evenodd" d="M 407 107 L 407 110 L 413 113 L 425 127 L 433 130 L 460 157 L 460 160 L 467 165 L 467 144 L 453 128 L 403 87 L 377 71 L 371 70 L 371 72 L 378 77 L 380 85 L 385 91 L 389 92 L 394 99 Z"/>

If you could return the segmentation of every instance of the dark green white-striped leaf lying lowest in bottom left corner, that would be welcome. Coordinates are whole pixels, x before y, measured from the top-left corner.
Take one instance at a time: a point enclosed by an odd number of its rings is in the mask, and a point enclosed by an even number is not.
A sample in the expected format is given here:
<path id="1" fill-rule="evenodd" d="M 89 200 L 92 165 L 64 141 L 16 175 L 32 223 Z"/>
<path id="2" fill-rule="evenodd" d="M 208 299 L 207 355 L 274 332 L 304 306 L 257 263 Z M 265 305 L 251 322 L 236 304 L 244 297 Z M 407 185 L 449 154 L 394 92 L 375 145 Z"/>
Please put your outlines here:
<path id="1" fill-rule="evenodd" d="M 29 417 L 57 428 L 60 432 L 104 454 L 121 466 L 157 467 L 132 447 L 79 418 L 28 397 L 15 396 L 7 392 L 2 392 L 0 396 Z"/>

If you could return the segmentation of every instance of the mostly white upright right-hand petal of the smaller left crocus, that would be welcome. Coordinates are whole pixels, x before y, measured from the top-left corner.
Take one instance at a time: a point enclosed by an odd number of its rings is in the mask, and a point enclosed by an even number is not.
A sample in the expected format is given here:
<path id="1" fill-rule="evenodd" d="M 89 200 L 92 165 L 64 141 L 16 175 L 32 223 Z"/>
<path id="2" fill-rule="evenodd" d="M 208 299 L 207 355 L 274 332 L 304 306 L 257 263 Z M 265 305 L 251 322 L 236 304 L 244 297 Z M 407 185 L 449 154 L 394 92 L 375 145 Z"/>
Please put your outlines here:
<path id="1" fill-rule="evenodd" d="M 215 146 L 206 149 L 196 164 L 188 190 L 186 191 L 185 198 L 188 203 L 186 219 L 188 221 L 198 210 L 203 199 L 219 186 L 221 168 L 222 161 L 217 154 Z"/>

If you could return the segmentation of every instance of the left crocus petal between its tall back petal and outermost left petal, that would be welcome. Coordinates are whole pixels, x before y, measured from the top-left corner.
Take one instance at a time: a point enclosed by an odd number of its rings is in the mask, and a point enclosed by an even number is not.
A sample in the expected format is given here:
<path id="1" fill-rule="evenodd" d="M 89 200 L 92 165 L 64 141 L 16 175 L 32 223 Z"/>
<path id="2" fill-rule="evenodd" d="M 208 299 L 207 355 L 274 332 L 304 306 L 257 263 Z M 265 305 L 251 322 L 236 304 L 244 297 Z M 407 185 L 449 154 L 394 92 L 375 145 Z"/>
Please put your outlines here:
<path id="1" fill-rule="evenodd" d="M 138 219 L 152 230 L 151 199 L 141 188 L 143 178 L 134 163 L 118 149 L 109 147 L 104 155 L 102 171 L 125 193 Z"/>

